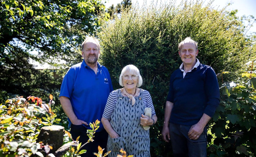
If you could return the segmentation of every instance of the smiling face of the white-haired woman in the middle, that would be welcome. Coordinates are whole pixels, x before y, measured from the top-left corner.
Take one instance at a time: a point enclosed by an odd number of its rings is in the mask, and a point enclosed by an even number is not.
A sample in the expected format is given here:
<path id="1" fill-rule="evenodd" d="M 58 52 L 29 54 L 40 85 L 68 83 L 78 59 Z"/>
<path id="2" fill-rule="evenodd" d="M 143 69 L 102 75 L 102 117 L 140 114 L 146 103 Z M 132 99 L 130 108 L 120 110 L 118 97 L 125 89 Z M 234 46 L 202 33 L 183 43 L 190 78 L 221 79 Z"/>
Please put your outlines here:
<path id="1" fill-rule="evenodd" d="M 128 93 L 136 89 L 138 82 L 138 75 L 136 75 L 136 73 L 130 73 L 129 71 L 126 71 L 122 76 L 122 79 L 124 88 Z"/>

